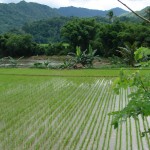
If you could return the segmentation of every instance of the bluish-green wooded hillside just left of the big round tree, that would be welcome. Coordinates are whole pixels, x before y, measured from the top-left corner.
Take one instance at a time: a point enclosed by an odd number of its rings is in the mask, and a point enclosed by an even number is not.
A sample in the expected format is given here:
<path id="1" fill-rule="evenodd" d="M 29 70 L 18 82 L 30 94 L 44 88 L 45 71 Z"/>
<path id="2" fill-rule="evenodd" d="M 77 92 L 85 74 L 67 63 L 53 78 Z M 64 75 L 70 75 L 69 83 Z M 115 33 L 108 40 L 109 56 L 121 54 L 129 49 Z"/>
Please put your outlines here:
<path id="1" fill-rule="evenodd" d="M 60 29 L 69 20 L 71 18 L 54 17 L 47 20 L 28 22 L 23 25 L 22 30 L 31 34 L 33 40 L 37 43 L 60 42 Z"/>

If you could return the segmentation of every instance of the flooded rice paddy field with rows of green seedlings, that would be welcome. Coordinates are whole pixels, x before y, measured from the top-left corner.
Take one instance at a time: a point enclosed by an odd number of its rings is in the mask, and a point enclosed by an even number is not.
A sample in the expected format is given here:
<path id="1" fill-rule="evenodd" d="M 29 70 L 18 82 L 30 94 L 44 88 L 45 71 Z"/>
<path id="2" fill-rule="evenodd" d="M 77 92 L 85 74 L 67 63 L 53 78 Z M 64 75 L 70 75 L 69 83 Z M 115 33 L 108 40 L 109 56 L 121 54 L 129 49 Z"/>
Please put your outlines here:
<path id="1" fill-rule="evenodd" d="M 134 70 L 129 70 L 129 73 Z M 143 70 L 149 74 L 149 70 Z M 0 150 L 150 150 L 150 118 L 114 129 L 108 113 L 127 95 L 119 70 L 0 69 Z M 139 130 L 140 129 L 140 130 Z"/>

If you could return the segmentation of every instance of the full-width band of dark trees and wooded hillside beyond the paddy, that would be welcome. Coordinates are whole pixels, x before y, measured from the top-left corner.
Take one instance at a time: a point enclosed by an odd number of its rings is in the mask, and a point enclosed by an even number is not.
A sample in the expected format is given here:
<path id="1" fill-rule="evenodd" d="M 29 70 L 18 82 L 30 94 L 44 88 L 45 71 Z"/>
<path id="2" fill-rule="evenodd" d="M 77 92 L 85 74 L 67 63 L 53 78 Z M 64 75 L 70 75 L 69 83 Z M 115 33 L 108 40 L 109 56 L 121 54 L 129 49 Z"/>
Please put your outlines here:
<path id="1" fill-rule="evenodd" d="M 58 17 L 26 23 L 21 30 L 0 35 L 0 57 L 66 55 L 75 52 L 76 46 L 84 51 L 89 44 L 98 55 L 110 57 L 119 55 L 116 50 L 125 43 L 150 47 L 150 26 L 126 17 L 113 22 L 103 17 Z"/>

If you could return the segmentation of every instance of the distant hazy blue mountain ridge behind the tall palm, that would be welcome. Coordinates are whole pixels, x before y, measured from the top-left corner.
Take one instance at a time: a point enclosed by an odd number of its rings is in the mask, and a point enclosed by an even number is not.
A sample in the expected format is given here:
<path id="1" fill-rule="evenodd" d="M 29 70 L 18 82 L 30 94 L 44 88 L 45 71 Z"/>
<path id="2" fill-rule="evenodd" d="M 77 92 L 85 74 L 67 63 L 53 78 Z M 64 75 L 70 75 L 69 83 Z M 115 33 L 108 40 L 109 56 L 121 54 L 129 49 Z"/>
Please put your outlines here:
<path id="1" fill-rule="evenodd" d="M 111 9 L 114 12 L 115 16 L 120 16 L 128 11 L 123 10 L 121 8 L 113 8 Z M 77 7 L 61 7 L 58 9 L 58 12 L 66 17 L 76 16 L 76 17 L 94 17 L 94 16 L 102 16 L 105 17 L 109 10 L 92 10 L 86 8 L 77 8 Z"/>

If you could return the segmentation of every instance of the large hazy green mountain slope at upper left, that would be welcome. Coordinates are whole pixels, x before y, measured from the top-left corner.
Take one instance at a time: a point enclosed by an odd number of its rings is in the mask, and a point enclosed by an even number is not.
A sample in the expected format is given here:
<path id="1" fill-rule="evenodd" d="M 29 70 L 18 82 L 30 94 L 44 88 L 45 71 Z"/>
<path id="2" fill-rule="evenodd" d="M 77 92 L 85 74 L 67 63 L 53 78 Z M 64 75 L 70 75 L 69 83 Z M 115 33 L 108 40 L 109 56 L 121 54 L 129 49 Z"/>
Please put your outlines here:
<path id="1" fill-rule="evenodd" d="M 21 27 L 25 22 L 60 16 L 56 9 L 37 3 L 21 1 L 17 4 L 0 3 L 0 33 Z"/>

